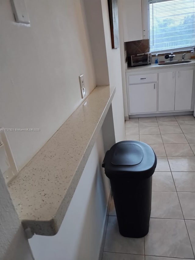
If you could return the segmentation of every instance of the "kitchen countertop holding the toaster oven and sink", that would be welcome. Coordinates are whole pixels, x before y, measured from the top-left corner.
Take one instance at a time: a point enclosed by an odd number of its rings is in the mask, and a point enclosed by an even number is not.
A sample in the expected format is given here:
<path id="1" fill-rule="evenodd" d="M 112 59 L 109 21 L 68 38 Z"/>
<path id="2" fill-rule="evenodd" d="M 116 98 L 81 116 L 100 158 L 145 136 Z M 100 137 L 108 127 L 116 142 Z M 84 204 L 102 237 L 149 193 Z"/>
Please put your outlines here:
<path id="1" fill-rule="evenodd" d="M 145 65 L 145 66 L 136 66 L 136 67 L 128 67 L 126 69 L 126 73 L 133 72 L 147 72 L 147 71 L 157 71 L 159 69 L 167 69 L 174 66 L 174 69 L 184 69 L 188 67 L 193 67 L 195 65 L 195 59 L 190 59 L 191 62 L 188 63 L 179 63 L 179 64 L 169 64 L 169 65 L 158 65 L 156 63 L 152 63 L 151 65 Z"/>

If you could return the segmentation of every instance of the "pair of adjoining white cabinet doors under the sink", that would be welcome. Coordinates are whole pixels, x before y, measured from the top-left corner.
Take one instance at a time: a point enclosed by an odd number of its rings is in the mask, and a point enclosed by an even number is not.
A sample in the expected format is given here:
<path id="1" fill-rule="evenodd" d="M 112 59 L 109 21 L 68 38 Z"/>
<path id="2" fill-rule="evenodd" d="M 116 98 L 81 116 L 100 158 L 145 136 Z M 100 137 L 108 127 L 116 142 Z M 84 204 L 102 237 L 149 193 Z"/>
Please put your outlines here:
<path id="1" fill-rule="evenodd" d="M 160 72 L 158 80 L 159 112 L 191 109 L 193 69 Z"/>

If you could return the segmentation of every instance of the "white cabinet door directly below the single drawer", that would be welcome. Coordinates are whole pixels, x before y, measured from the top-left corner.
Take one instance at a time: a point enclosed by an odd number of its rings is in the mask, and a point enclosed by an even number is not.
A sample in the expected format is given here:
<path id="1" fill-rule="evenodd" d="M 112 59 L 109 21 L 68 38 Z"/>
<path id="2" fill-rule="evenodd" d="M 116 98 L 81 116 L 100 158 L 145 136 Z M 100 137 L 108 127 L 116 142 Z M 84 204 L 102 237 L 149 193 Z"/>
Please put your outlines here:
<path id="1" fill-rule="evenodd" d="M 130 113 L 157 111 L 156 83 L 129 85 Z"/>

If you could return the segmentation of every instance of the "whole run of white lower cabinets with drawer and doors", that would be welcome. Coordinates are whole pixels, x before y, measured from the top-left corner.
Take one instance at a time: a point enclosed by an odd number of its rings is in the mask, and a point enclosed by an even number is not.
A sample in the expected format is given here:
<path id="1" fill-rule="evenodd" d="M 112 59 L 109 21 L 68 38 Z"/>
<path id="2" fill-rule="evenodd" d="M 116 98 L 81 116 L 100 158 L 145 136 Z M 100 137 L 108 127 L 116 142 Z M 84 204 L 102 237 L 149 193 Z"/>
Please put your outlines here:
<path id="1" fill-rule="evenodd" d="M 191 110 L 193 68 L 171 69 L 159 69 L 158 73 L 152 70 L 134 75 L 126 73 L 129 115 Z"/>

